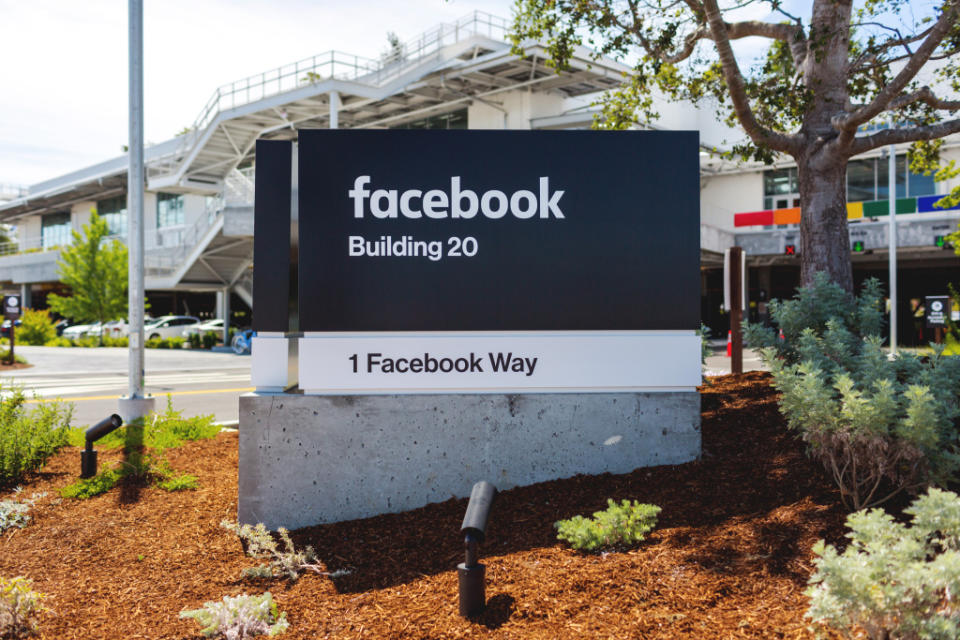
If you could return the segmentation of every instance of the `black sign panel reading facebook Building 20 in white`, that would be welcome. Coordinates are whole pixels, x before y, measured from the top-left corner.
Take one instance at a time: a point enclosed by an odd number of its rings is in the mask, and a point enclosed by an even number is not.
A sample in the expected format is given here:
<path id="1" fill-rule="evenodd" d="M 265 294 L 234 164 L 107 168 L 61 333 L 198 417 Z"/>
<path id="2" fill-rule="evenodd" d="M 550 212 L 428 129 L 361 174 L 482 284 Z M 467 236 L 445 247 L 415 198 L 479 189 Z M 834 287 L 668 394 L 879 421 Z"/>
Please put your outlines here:
<path id="1" fill-rule="evenodd" d="M 699 327 L 696 132 L 299 136 L 302 331 Z"/>

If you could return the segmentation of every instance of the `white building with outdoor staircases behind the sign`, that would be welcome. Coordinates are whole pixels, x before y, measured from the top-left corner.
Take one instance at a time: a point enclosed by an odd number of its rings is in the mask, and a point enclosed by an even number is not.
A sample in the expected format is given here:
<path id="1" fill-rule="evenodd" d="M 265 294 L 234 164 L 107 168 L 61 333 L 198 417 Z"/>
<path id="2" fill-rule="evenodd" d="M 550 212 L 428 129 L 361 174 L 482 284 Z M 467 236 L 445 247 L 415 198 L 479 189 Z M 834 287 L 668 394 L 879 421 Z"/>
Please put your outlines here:
<path id="1" fill-rule="evenodd" d="M 145 150 L 146 288 L 151 313 L 224 316 L 245 324 L 253 300 L 254 142 L 292 139 L 299 128 L 570 129 L 589 127 L 599 92 L 629 69 L 577 50 L 571 69 L 546 65 L 545 47 L 507 40 L 509 21 L 475 12 L 441 24 L 377 59 L 336 51 L 257 74 L 216 90 L 182 135 Z M 696 129 L 705 148 L 743 134 L 710 109 L 663 102 L 656 124 Z M 900 317 L 912 297 L 946 293 L 960 282 L 960 260 L 937 245 L 957 228 L 960 211 L 932 207 L 956 184 L 910 174 L 899 158 Z M 749 256 L 754 317 L 763 301 L 786 297 L 799 282 L 796 168 L 735 165 L 701 154 L 703 318 L 726 330 L 720 311 L 722 255 L 735 244 Z M 886 280 L 885 164 L 874 152 L 851 163 L 848 205 L 855 277 Z M 960 159 L 960 138 L 944 156 Z M 114 233 L 126 233 L 125 156 L 32 185 L 0 203 L 0 223 L 17 244 L 0 250 L 0 286 L 20 289 L 26 306 L 44 306 L 58 288 L 58 247 L 96 209 Z M 667 214 L 668 212 L 663 212 Z M 907 306 L 904 306 L 907 305 Z M 901 336 L 910 335 L 905 325 Z"/>

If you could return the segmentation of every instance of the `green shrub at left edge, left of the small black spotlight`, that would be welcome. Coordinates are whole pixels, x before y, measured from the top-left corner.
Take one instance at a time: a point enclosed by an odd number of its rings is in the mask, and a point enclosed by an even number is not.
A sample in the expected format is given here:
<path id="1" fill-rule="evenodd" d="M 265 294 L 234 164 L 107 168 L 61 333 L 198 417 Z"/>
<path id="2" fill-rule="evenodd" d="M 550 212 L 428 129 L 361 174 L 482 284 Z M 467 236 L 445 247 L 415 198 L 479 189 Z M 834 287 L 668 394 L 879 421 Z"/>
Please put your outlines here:
<path id="1" fill-rule="evenodd" d="M 0 382 L 0 485 L 20 482 L 67 444 L 73 406 L 38 402 L 27 409 L 23 389 Z"/>

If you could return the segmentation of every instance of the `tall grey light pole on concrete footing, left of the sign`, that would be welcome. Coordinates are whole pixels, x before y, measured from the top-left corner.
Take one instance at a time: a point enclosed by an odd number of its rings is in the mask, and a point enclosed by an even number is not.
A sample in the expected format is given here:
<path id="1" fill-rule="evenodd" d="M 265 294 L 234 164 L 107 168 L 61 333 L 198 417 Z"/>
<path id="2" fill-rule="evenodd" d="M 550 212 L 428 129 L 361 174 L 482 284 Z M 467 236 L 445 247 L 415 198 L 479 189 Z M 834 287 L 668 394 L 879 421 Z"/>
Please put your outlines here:
<path id="1" fill-rule="evenodd" d="M 128 263 L 128 392 L 120 398 L 124 422 L 143 417 L 153 409 L 153 397 L 143 393 L 143 0 L 128 0 L 130 47 L 130 138 L 127 170 L 129 217 Z"/>

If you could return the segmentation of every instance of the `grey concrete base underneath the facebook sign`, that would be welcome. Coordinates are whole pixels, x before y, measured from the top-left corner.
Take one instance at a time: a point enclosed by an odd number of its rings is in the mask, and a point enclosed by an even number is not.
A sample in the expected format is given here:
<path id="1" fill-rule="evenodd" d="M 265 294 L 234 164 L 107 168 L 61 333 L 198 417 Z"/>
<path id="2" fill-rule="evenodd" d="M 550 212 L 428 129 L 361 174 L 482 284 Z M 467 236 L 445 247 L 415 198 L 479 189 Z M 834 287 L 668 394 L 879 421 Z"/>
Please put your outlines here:
<path id="1" fill-rule="evenodd" d="M 253 393 L 240 398 L 238 518 L 294 529 L 466 497 L 478 480 L 508 489 L 699 455 L 696 391 Z"/>

